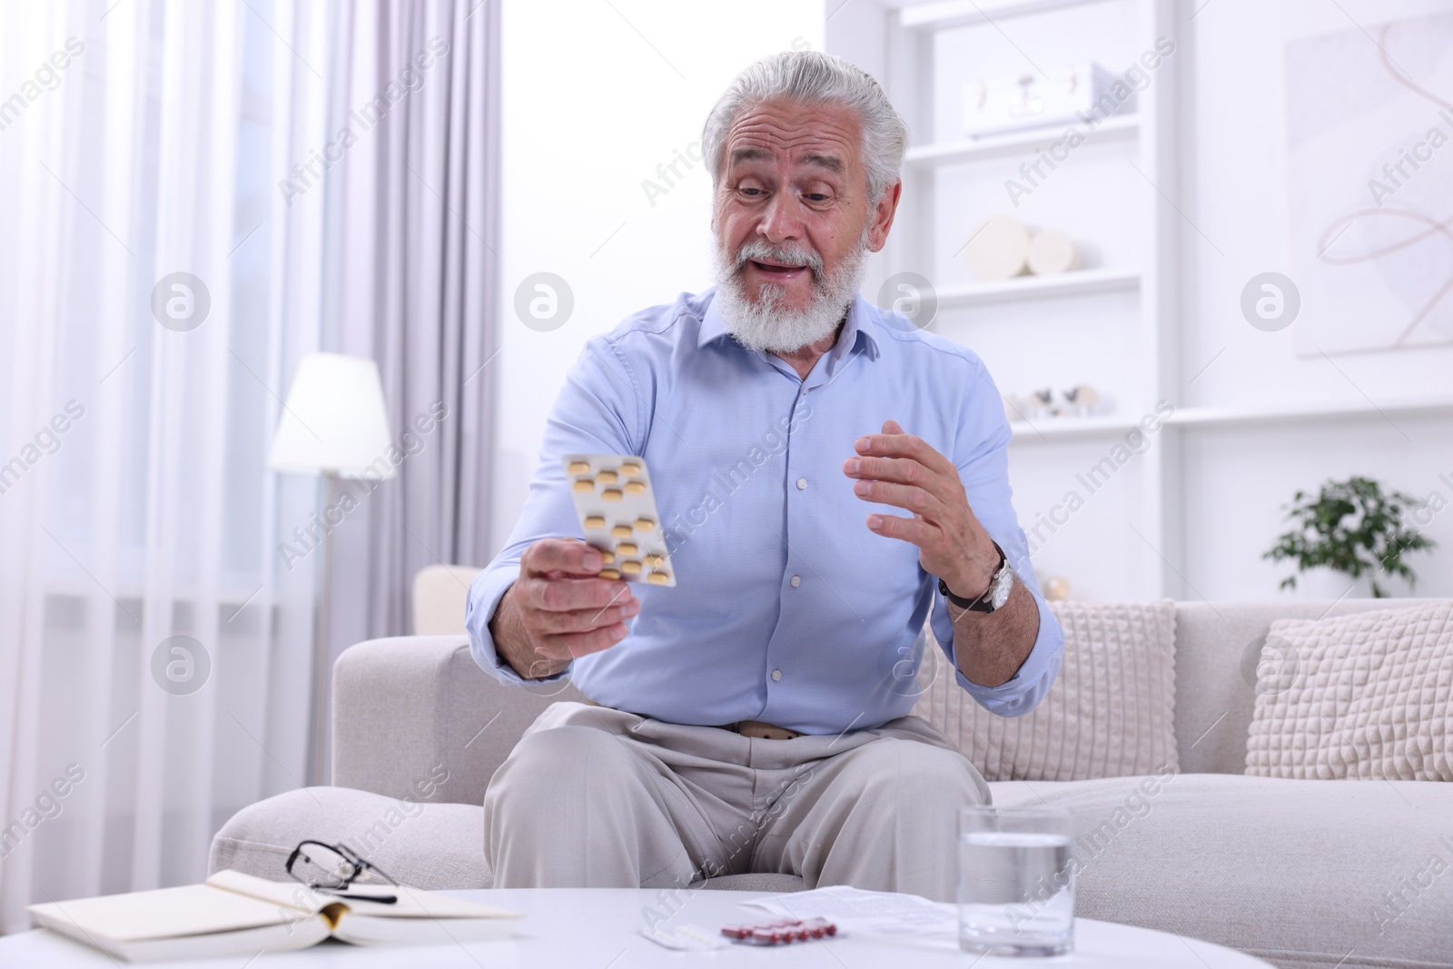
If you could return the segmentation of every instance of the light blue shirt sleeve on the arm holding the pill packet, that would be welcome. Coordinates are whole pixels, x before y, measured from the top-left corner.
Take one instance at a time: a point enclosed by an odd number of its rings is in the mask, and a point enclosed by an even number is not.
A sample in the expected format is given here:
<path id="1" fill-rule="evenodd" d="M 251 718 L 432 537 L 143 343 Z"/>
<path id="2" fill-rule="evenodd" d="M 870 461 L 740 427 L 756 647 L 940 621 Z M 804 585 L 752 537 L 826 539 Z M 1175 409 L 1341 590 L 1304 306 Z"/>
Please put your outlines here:
<path id="1" fill-rule="evenodd" d="M 561 455 L 634 455 L 641 437 L 641 388 L 625 357 L 606 337 L 590 340 L 565 378 L 565 386 L 551 410 L 541 446 L 539 465 L 530 479 L 520 519 L 504 549 L 469 584 L 465 628 L 475 662 L 500 683 L 523 684 L 500 657 L 490 635 L 490 620 L 504 593 L 520 574 L 525 549 L 546 538 L 580 538 L 575 506 L 565 482 Z M 570 667 L 533 683 L 561 680 Z"/>

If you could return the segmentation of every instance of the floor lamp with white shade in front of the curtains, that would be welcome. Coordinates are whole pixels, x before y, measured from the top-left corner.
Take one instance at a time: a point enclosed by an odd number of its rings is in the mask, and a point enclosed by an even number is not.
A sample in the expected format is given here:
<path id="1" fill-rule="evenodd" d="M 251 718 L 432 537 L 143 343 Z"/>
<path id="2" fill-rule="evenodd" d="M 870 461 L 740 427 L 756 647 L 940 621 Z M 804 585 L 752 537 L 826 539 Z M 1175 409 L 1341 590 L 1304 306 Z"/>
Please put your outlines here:
<path id="1" fill-rule="evenodd" d="M 394 477 L 384 385 L 378 365 L 339 353 L 309 353 L 298 363 L 278 433 L 273 434 L 267 468 L 283 474 L 323 477 L 323 514 L 308 526 L 323 526 L 323 584 L 312 644 L 312 710 L 308 754 L 311 784 L 324 780 L 328 710 L 328 607 L 333 587 L 333 529 L 330 516 L 339 478 Z M 317 546 L 314 546 L 317 548 Z"/>

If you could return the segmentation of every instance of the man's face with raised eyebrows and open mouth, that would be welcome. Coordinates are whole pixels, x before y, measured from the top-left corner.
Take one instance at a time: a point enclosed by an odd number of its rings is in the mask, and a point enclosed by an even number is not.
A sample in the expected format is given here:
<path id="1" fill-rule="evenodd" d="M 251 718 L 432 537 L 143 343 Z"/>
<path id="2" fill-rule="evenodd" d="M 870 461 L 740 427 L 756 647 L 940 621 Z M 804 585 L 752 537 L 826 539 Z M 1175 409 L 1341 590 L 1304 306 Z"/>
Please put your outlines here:
<path id="1" fill-rule="evenodd" d="M 804 312 L 822 280 L 859 254 L 865 234 L 869 251 L 883 247 L 898 186 L 870 205 L 859 137 L 857 113 L 840 105 L 766 102 L 737 116 L 713 227 L 728 266 L 757 244 L 735 269 L 751 304 L 774 285 L 777 307 Z"/>

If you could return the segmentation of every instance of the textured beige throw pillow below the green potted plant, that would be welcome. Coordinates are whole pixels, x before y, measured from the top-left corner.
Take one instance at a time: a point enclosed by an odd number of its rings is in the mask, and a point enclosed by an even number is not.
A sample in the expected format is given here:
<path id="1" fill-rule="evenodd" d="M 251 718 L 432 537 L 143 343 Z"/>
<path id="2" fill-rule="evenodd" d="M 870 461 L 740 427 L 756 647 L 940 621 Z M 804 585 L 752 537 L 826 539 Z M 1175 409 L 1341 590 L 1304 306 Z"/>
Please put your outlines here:
<path id="1" fill-rule="evenodd" d="M 1257 696 L 1248 774 L 1453 780 L 1453 603 L 1279 619 L 1267 641 L 1284 689 Z"/>

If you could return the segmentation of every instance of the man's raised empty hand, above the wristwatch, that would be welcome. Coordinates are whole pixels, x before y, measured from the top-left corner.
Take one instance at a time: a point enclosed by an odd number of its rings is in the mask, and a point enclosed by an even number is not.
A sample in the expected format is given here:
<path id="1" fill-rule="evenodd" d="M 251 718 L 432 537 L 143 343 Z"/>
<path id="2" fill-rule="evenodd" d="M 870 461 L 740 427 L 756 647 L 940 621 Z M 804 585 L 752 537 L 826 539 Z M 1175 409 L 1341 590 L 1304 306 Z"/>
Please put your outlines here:
<path id="1" fill-rule="evenodd" d="M 959 479 L 959 469 L 921 437 L 904 433 L 898 421 L 883 421 L 883 433 L 857 439 L 857 458 L 843 462 L 856 478 L 853 491 L 865 501 L 912 511 L 911 519 L 867 516 L 867 527 L 918 546 L 918 562 L 965 599 L 988 588 L 998 552 Z"/>

